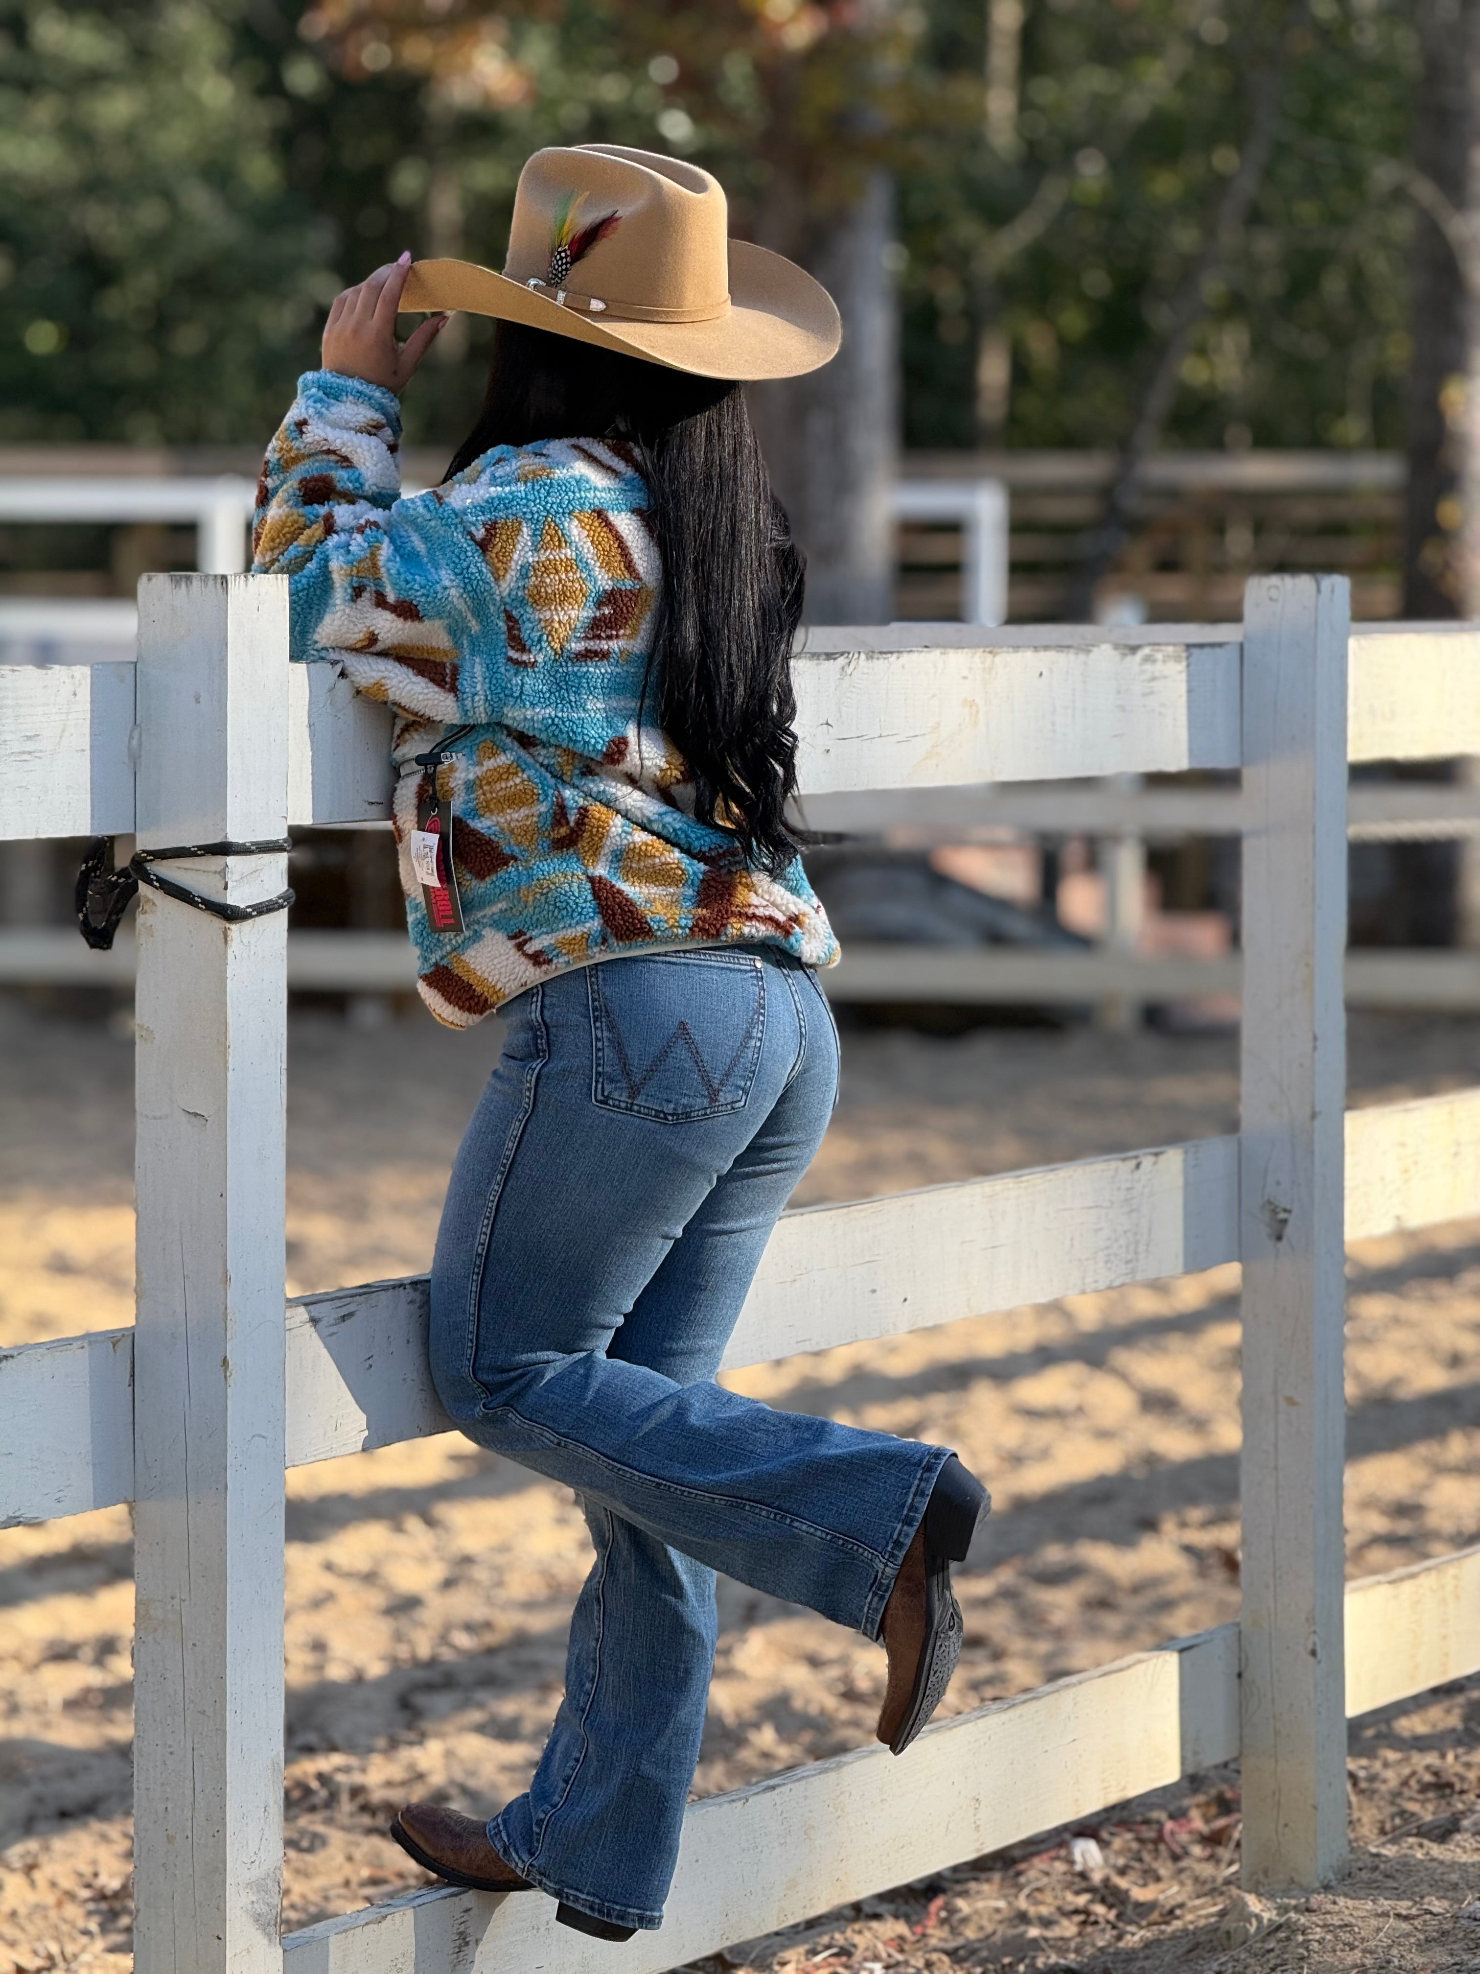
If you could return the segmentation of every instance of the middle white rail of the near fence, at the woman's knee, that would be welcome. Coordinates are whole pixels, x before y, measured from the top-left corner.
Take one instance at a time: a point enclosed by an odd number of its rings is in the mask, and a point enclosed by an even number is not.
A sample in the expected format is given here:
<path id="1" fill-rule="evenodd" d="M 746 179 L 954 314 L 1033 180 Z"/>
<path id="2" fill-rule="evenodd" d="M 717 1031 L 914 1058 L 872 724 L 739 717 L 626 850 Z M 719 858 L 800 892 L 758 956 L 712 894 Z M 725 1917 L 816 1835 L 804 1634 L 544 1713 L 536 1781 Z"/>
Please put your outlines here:
<path id="1" fill-rule="evenodd" d="M 1346 1117 L 1346 1240 L 1472 1212 L 1480 1090 Z M 1239 1141 L 969 1178 L 785 1214 L 724 1368 L 898 1336 L 1239 1259 Z M 286 1305 L 284 1465 L 452 1431 L 426 1368 L 426 1277 Z M 132 1500 L 134 1330 L 0 1352 L 8 1524 Z"/>

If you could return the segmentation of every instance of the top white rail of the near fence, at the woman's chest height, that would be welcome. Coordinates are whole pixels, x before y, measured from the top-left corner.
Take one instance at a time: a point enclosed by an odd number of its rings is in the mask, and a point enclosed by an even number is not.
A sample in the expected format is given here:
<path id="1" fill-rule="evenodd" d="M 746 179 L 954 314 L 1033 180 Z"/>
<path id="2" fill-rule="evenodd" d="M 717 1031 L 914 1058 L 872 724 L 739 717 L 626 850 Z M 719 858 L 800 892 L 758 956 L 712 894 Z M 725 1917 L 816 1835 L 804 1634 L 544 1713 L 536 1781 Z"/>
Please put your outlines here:
<path id="1" fill-rule="evenodd" d="M 929 644 L 910 624 L 805 634 L 803 796 L 1241 766 L 1241 647 L 1225 626 L 1154 638 L 1002 626 L 991 644 L 971 626 L 924 630 Z M 134 671 L 0 665 L 0 839 L 134 829 Z M 1472 626 L 1358 630 L 1348 760 L 1480 754 L 1476 677 Z M 385 709 L 326 665 L 296 667 L 284 691 L 288 821 L 385 819 Z"/>

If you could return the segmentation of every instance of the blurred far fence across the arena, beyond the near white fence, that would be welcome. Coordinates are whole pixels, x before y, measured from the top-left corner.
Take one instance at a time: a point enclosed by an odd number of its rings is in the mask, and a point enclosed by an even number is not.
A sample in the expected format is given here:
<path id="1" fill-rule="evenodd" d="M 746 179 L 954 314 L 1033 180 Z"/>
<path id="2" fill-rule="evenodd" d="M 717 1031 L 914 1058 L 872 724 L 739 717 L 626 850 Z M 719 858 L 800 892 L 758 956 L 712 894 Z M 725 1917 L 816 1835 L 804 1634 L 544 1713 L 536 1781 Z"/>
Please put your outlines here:
<path id="1" fill-rule="evenodd" d="M 965 476 L 963 458 L 971 468 Z M 156 456 L 107 446 L 53 452 L 0 448 L 0 559 L 8 565 L 36 557 L 45 561 L 47 555 L 67 561 L 85 541 L 93 541 L 97 557 L 103 549 L 95 537 L 107 533 L 112 563 L 111 570 L 0 570 L 0 663 L 132 659 L 134 604 L 103 590 L 109 584 L 132 590 L 140 557 L 154 557 L 158 567 L 170 549 L 184 559 L 193 557 L 207 570 L 243 569 L 245 521 L 253 501 L 247 466 L 251 458 L 231 450 Z M 418 456 L 410 470 L 428 478 L 440 462 Z M 1109 456 L 1079 452 L 912 456 L 910 476 L 894 490 L 902 523 L 898 608 L 906 616 L 997 624 L 1006 610 L 1008 586 L 1016 616 L 1054 602 L 1058 592 L 1052 582 L 1044 588 L 1040 580 L 1042 557 L 1052 561 L 1058 555 L 1064 569 L 1072 569 L 1081 527 L 1095 513 L 1109 470 Z M 1143 478 L 1143 531 L 1131 563 L 1160 569 L 1158 580 L 1170 580 L 1162 567 L 1166 557 L 1174 549 L 1182 553 L 1196 537 L 1208 547 L 1196 559 L 1198 569 L 1216 576 L 1212 586 L 1200 576 L 1192 588 L 1162 584 L 1164 594 L 1141 596 L 1141 606 L 1152 616 L 1164 616 L 1174 606 L 1190 616 L 1210 614 L 1214 606 L 1235 614 L 1243 570 L 1255 553 L 1267 563 L 1302 567 L 1312 559 L 1330 559 L 1346 543 L 1346 563 L 1360 551 L 1371 567 L 1371 555 L 1385 559 L 1383 567 L 1395 567 L 1397 456 L 1174 454 L 1148 460 Z M 1016 521 L 1010 578 L 1008 488 Z M 87 527 L 93 535 L 79 533 Z M 1131 565 L 1123 574 L 1131 588 L 1141 580 Z M 67 594 L 30 594 L 34 588 Z M 1391 608 L 1389 590 L 1391 584 L 1387 590 L 1362 588 L 1364 610 Z M 1079 790 L 924 788 L 815 797 L 809 805 L 813 825 L 882 839 L 918 857 L 939 843 L 1002 843 L 1010 837 L 1046 845 L 1052 861 L 1066 829 L 1073 829 L 1079 841 L 1072 843 L 1072 855 L 1079 855 L 1085 839 L 1097 845 L 1105 890 L 1095 948 L 1075 949 L 1072 942 L 1062 942 L 1054 949 L 1042 940 L 1016 949 L 983 946 L 977 951 L 874 946 L 864 928 L 849 926 L 845 963 L 827 981 L 831 997 L 916 1007 L 931 1001 L 955 1007 L 1093 1005 L 1099 1019 L 1117 1025 L 1137 1023 L 1145 1007 L 1200 1003 L 1202 1011 L 1192 1009 L 1192 1019 L 1208 1019 L 1216 1003 L 1227 1011 L 1239 991 L 1237 953 L 1218 949 L 1229 944 L 1227 900 L 1202 896 L 1204 906 L 1218 902 L 1223 926 L 1194 926 L 1176 914 L 1147 924 L 1147 845 L 1160 845 L 1152 861 L 1172 873 L 1180 906 L 1196 904 L 1186 892 L 1208 890 L 1216 839 L 1239 829 L 1237 794 L 1229 788 L 1145 790 L 1125 784 L 1127 778 L 1119 776 L 1113 786 Z M 1352 790 L 1348 835 L 1362 845 L 1466 843 L 1480 835 L 1480 794 L 1472 786 L 1433 780 L 1364 780 Z M 1415 855 L 1427 863 L 1415 867 Z M 1456 869 L 1452 853 L 1450 863 L 1444 855 L 1443 849 L 1364 851 L 1358 936 L 1379 938 L 1385 949 L 1350 955 L 1350 1005 L 1480 1007 L 1480 959 L 1472 951 L 1444 951 L 1429 944 L 1437 932 L 1444 940 L 1452 936 L 1439 926 Z M 1474 851 L 1462 855 L 1470 869 Z M 316 867 L 314 876 L 308 874 L 312 859 L 326 865 L 324 871 Z M 77 948 L 63 924 L 67 867 L 75 861 L 77 847 L 67 843 L 55 851 L 47 843 L 0 845 L 0 981 L 130 985 L 132 942 L 120 942 L 112 961 L 101 963 Z M 330 865 L 339 873 L 337 884 Z M 385 930 L 397 922 L 399 910 L 381 845 L 326 847 L 322 837 L 308 839 L 300 843 L 294 882 L 300 906 L 288 953 L 290 985 L 347 993 L 367 1017 L 375 1017 L 377 1009 L 383 1015 L 387 1003 L 375 997 L 408 991 L 412 977 L 405 938 L 399 930 Z M 1415 908 L 1419 894 L 1431 904 Z M 1046 898 L 1052 914 L 1052 892 Z M 1460 910 L 1458 916 L 1464 920 L 1460 946 L 1474 949 L 1478 942 L 1470 920 L 1476 914 Z M 357 930 L 347 936 L 330 932 L 337 918 L 347 918 Z M 1188 942 L 1194 949 L 1184 949 Z"/>

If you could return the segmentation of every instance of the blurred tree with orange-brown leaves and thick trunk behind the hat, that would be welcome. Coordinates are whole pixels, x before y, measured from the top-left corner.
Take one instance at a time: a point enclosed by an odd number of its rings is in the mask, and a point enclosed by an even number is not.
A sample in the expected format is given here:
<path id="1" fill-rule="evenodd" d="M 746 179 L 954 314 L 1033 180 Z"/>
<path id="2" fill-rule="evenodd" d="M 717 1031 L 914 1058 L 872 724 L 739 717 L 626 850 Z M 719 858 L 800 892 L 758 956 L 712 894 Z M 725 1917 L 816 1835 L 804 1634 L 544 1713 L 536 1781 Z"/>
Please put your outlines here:
<path id="1" fill-rule="evenodd" d="M 511 128 L 543 126 L 543 142 L 661 144 L 724 178 L 740 233 L 827 282 L 843 353 L 813 377 L 758 387 L 752 405 L 807 551 L 809 614 L 868 622 L 890 614 L 894 580 L 888 174 L 918 162 L 908 132 L 924 122 L 912 63 L 922 28 L 918 10 L 892 0 L 448 0 L 436 12 L 422 0 L 318 0 L 300 32 L 349 77 L 381 65 L 426 79 L 448 213 L 466 160 L 501 148 Z M 933 105 L 937 122 L 943 107 L 949 93 Z M 450 239 L 440 251 L 458 251 Z"/>

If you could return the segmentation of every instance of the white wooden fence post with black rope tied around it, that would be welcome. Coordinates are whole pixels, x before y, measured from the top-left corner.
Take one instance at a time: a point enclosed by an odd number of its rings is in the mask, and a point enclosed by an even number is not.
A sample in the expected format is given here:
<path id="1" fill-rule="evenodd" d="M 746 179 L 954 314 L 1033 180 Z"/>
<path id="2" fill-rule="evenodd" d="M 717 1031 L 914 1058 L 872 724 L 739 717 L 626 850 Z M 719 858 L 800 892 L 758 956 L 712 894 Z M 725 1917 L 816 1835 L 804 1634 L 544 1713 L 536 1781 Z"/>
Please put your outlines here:
<path id="1" fill-rule="evenodd" d="M 142 847 L 282 837 L 288 590 L 146 576 Z M 251 902 L 282 855 L 162 871 Z M 282 1887 L 286 914 L 138 912 L 138 1974 L 276 1974 Z"/>

